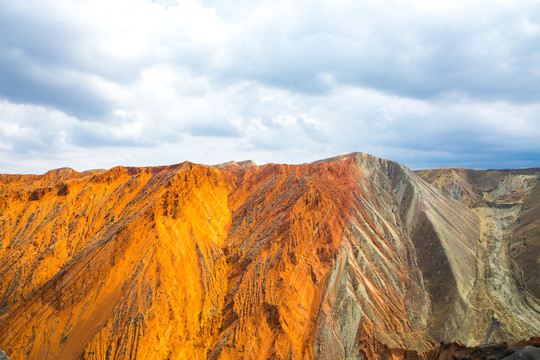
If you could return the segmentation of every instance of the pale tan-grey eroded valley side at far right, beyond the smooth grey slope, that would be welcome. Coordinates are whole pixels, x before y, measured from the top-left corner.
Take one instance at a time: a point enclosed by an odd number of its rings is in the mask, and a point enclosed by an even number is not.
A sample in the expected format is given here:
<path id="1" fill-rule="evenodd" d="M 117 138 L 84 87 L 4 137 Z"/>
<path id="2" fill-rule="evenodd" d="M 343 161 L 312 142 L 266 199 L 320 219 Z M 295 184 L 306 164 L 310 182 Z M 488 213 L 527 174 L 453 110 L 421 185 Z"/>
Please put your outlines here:
<path id="1" fill-rule="evenodd" d="M 480 219 L 478 272 L 468 316 L 475 321 L 464 323 L 462 339 L 477 344 L 538 333 L 540 169 L 416 173 L 468 205 Z"/>

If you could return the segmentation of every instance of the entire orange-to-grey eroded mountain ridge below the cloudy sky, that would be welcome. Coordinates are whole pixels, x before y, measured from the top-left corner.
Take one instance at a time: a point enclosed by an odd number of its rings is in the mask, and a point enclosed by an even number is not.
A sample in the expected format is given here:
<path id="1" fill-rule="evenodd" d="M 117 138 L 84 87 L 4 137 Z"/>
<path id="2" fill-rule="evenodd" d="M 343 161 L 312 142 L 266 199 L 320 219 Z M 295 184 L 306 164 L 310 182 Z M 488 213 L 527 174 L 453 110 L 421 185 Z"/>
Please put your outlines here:
<path id="1" fill-rule="evenodd" d="M 451 359 L 540 335 L 539 254 L 540 168 L 352 153 L 2 174 L 0 349 Z"/>

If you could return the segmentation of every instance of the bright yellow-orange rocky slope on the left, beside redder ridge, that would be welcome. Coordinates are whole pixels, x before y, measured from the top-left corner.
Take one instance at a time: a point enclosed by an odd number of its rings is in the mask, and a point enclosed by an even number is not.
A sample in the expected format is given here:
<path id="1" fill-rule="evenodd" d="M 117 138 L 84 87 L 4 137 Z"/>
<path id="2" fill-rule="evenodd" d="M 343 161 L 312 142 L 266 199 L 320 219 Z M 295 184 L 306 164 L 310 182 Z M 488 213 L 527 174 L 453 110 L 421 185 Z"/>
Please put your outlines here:
<path id="1" fill-rule="evenodd" d="M 219 171 L 116 168 L 37 200 L 11 186 L 0 272 L 12 359 L 204 357 L 227 290 Z"/>

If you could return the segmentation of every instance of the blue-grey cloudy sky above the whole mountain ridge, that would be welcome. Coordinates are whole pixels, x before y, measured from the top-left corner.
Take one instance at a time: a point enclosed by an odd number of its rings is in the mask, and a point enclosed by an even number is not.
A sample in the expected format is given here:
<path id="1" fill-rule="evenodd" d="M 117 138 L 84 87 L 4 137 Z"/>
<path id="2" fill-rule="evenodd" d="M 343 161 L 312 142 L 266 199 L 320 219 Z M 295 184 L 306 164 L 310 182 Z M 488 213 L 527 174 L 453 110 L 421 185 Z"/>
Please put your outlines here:
<path id="1" fill-rule="evenodd" d="M 0 0 L 0 173 L 540 167 L 538 0 Z"/>

